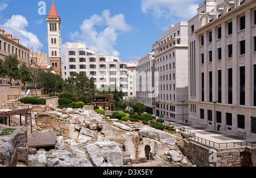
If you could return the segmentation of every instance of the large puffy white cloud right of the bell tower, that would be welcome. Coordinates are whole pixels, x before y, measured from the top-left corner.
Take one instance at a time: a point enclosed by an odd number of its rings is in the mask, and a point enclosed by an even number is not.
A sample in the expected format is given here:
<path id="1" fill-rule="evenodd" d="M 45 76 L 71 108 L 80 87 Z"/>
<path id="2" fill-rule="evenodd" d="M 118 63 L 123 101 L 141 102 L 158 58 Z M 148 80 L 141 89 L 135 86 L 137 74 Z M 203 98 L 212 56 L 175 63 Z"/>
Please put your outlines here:
<path id="1" fill-rule="evenodd" d="M 97 31 L 96 26 L 104 29 Z M 114 49 L 117 37 L 120 33 L 130 30 L 131 27 L 126 23 L 123 14 L 111 16 L 109 10 L 104 10 L 101 15 L 94 14 L 90 19 L 85 19 L 80 26 L 80 32 L 71 33 L 71 39 L 85 43 L 97 53 L 119 56 L 119 52 Z"/>

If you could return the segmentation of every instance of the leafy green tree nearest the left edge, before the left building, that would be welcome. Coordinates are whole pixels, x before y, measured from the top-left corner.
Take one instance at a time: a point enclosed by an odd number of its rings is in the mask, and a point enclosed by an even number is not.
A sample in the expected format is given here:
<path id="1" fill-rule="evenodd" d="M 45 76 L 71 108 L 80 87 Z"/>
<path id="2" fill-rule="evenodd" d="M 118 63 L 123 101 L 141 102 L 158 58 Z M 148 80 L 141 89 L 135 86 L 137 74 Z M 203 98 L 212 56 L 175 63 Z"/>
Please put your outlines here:
<path id="1" fill-rule="evenodd" d="M 19 79 L 19 61 L 16 55 L 9 55 L 5 57 L 5 61 L 3 61 L 3 71 L 2 77 L 9 78 L 10 85 L 12 86 L 11 82 L 15 79 Z"/>

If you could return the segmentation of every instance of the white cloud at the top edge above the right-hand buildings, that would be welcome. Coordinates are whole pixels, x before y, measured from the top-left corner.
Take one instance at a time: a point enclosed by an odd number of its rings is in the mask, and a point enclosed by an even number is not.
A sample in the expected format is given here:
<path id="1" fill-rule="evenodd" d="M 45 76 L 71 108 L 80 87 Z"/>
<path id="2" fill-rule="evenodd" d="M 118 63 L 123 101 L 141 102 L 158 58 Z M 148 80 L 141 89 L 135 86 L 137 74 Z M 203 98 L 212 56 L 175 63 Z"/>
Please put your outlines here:
<path id="1" fill-rule="evenodd" d="M 141 0 L 144 14 L 151 14 L 159 23 L 177 23 L 196 15 L 199 0 Z"/>

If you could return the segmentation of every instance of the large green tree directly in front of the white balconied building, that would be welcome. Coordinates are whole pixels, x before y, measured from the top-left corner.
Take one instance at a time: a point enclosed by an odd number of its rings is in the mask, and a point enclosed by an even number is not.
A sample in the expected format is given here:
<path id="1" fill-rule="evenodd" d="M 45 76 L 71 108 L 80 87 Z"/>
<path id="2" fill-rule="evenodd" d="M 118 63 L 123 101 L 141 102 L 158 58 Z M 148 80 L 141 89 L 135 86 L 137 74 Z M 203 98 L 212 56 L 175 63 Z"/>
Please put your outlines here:
<path id="1" fill-rule="evenodd" d="M 96 94 L 93 78 L 88 78 L 83 73 L 75 73 L 65 79 L 64 90 L 74 94 L 79 101 L 90 103 L 90 96 Z"/>

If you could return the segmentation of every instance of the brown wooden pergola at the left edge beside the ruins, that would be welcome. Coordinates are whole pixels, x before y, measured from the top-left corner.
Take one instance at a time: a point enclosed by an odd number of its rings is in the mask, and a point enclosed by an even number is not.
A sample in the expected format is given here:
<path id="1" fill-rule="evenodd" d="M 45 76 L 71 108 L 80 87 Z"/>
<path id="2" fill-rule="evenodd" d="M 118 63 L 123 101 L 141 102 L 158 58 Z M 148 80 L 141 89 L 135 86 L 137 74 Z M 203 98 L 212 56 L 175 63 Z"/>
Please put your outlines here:
<path id="1" fill-rule="evenodd" d="M 27 124 L 28 113 L 30 113 L 30 126 L 31 126 L 31 132 L 32 132 L 32 108 L 0 112 L 1 124 L 11 126 L 11 118 L 10 117 L 16 116 L 16 115 L 19 115 L 20 126 L 22 126 L 22 116 L 23 115 L 25 116 L 25 124 Z M 7 117 L 9 118 L 8 123 L 7 123 Z"/>

